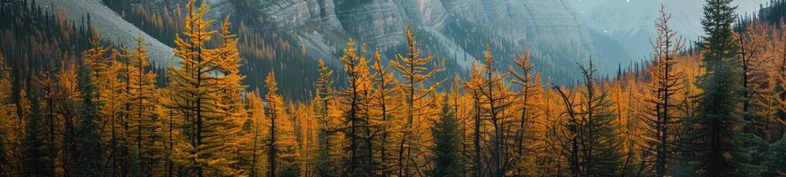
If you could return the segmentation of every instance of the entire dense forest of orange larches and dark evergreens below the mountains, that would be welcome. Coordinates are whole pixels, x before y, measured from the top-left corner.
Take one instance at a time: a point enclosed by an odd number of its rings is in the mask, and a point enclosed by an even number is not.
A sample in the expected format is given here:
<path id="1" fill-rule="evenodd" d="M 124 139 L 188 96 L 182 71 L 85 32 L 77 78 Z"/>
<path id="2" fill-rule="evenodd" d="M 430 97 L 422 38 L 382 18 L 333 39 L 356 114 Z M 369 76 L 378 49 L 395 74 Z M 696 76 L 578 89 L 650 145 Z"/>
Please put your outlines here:
<path id="1" fill-rule="evenodd" d="M 171 39 L 178 62 L 157 65 L 142 37 L 4 1 L 0 176 L 786 176 L 786 2 L 749 19 L 730 3 L 707 1 L 697 43 L 661 8 L 651 60 L 608 77 L 588 56 L 560 85 L 528 49 L 497 56 L 505 42 L 473 43 L 469 73 L 412 26 L 396 55 L 348 40 L 315 62 L 204 1 L 104 0 Z"/>

